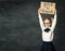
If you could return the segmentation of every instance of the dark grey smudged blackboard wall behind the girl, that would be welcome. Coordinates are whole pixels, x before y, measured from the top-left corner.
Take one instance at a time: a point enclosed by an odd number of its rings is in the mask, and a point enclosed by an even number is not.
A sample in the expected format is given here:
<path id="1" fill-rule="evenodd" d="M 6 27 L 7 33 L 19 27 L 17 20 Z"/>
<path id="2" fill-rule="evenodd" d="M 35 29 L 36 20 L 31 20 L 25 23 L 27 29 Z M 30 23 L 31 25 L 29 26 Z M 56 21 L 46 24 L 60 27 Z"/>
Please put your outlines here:
<path id="1" fill-rule="evenodd" d="M 65 1 L 46 1 L 56 2 L 53 43 L 56 51 L 65 51 Z M 40 0 L 0 0 L 0 51 L 40 51 L 39 3 Z"/>

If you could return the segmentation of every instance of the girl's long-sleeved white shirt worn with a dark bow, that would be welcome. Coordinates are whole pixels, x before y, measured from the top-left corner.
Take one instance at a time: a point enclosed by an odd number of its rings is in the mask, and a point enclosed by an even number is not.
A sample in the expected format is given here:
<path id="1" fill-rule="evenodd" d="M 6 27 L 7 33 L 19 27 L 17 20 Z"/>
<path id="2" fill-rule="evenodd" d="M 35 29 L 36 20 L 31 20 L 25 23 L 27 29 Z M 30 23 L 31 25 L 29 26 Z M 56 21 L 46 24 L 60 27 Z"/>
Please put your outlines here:
<path id="1" fill-rule="evenodd" d="M 43 41 L 52 41 L 53 40 L 53 36 L 54 36 L 53 30 L 54 30 L 54 27 L 56 25 L 56 14 L 54 15 L 54 20 L 52 22 L 52 26 L 49 27 L 51 29 L 49 33 L 44 31 L 44 29 L 47 27 L 44 27 L 43 21 L 42 21 L 42 17 L 41 17 L 40 14 L 38 14 L 38 17 L 39 17 L 40 27 L 41 27 L 41 30 L 42 30 L 42 40 Z"/>

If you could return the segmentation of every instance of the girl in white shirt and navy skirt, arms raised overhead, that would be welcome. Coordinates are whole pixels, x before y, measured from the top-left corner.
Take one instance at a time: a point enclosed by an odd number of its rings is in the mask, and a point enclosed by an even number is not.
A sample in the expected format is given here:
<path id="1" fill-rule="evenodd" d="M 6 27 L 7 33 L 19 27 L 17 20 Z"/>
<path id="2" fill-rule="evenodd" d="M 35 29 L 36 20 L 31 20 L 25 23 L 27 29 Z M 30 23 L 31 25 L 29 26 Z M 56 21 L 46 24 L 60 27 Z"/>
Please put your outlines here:
<path id="1" fill-rule="evenodd" d="M 46 17 L 42 20 L 39 11 L 38 11 L 38 17 L 39 17 L 40 27 L 42 30 L 41 51 L 55 51 L 52 40 L 53 40 L 53 36 L 54 36 L 53 30 L 56 25 L 56 11 L 55 11 L 53 21 L 50 17 Z"/>

